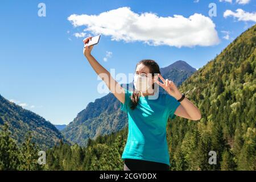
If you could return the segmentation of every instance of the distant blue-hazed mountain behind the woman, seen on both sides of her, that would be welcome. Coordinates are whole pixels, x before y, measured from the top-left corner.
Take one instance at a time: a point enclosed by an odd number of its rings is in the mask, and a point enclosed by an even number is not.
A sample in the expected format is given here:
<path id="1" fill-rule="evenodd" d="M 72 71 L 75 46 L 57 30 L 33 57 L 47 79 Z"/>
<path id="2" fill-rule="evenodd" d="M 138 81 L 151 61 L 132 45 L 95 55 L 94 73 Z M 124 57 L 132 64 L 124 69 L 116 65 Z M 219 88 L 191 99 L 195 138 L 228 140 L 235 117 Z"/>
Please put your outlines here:
<path id="1" fill-rule="evenodd" d="M 161 68 L 164 78 L 168 78 L 180 85 L 195 72 L 185 61 L 176 61 L 168 67 Z M 163 91 L 160 88 L 160 92 Z M 90 102 L 77 117 L 62 130 L 64 137 L 73 143 L 85 146 L 88 138 L 117 132 L 127 125 L 127 115 L 120 110 L 120 102 L 112 93 Z"/>

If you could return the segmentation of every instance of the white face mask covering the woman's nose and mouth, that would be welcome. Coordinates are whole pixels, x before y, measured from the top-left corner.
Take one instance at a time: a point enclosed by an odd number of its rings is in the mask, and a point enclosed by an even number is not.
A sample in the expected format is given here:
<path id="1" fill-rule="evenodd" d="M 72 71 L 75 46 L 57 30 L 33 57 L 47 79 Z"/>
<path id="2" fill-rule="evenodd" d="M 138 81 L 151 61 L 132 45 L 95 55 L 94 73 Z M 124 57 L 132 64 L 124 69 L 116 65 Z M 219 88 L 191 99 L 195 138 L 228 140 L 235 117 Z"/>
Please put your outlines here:
<path id="1" fill-rule="evenodd" d="M 141 92 L 146 92 L 148 89 L 152 88 L 152 81 L 150 78 L 141 75 L 135 75 L 133 81 L 136 90 Z"/>

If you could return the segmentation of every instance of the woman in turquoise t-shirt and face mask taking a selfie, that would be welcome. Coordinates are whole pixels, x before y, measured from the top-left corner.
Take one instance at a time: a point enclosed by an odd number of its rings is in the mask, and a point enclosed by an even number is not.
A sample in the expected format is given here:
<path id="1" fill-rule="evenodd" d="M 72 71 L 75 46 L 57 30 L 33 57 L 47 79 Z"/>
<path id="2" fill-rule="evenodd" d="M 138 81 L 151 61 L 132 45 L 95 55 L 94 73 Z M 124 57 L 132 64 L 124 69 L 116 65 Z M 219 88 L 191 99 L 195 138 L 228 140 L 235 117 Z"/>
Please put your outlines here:
<path id="1" fill-rule="evenodd" d="M 88 43 L 92 36 L 86 38 Z M 85 46 L 84 55 L 94 71 L 105 81 L 110 92 L 121 102 L 128 115 L 129 133 L 122 154 L 124 170 L 169 170 L 170 159 L 166 139 L 167 119 L 175 115 L 191 120 L 201 118 L 200 110 L 179 92 L 174 82 L 164 80 L 154 60 L 142 60 L 136 65 L 135 91 L 122 88 L 110 73 L 91 55 L 93 46 Z M 108 79 L 105 79 L 105 76 Z M 154 75 L 154 76 L 153 76 Z M 162 80 L 162 82 L 159 81 Z M 155 84 L 168 94 L 155 96 Z M 112 85 L 111 85 L 112 84 Z"/>

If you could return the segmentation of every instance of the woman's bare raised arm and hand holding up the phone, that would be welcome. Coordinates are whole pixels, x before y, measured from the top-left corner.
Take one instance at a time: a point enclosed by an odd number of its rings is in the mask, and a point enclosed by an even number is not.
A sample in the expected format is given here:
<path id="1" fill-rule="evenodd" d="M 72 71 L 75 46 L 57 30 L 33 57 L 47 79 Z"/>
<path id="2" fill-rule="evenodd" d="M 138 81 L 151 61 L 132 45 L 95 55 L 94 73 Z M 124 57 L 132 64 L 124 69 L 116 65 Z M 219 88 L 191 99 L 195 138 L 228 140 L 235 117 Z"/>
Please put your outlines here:
<path id="1" fill-rule="evenodd" d="M 84 43 L 88 43 L 91 39 L 92 36 L 86 38 Z M 92 51 L 92 48 L 93 46 L 86 46 L 84 48 L 84 56 L 89 61 L 90 65 L 97 73 L 97 75 L 100 76 L 101 79 L 106 83 L 110 92 L 112 92 L 120 102 L 125 103 L 125 90 L 117 81 L 115 81 L 110 73 L 104 67 L 102 67 L 102 65 L 98 63 L 98 61 L 91 55 L 90 52 Z"/>

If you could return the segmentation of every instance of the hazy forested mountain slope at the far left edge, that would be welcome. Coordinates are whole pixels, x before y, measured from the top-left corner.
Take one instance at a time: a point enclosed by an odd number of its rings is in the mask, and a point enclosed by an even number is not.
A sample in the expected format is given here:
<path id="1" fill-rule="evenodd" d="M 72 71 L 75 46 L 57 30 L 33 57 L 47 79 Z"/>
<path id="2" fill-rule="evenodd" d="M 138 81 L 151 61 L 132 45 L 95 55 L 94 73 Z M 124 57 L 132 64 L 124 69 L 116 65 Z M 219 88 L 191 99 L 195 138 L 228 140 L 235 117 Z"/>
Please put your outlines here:
<path id="1" fill-rule="evenodd" d="M 12 137 L 19 144 L 23 142 L 29 131 L 32 134 L 32 141 L 38 144 L 42 150 L 52 147 L 60 139 L 64 139 L 52 123 L 0 95 L 0 126 L 6 122 L 10 126 Z"/>

